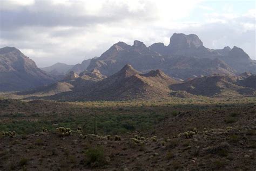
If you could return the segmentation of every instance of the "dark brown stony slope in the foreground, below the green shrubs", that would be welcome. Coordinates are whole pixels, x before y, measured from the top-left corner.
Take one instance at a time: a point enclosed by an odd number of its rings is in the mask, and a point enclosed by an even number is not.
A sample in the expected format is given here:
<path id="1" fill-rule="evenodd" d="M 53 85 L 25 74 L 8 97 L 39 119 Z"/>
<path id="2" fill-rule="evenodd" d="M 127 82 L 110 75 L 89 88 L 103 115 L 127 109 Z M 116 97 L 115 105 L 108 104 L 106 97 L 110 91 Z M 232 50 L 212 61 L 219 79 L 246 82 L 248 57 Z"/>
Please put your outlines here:
<path id="1" fill-rule="evenodd" d="M 185 132 L 174 138 L 141 138 L 140 134 L 129 133 L 122 135 L 120 141 L 93 134 L 86 138 L 80 138 L 78 134 L 60 137 L 55 132 L 2 137 L 0 169 L 255 169 L 255 126 L 194 131 L 191 135 Z"/>

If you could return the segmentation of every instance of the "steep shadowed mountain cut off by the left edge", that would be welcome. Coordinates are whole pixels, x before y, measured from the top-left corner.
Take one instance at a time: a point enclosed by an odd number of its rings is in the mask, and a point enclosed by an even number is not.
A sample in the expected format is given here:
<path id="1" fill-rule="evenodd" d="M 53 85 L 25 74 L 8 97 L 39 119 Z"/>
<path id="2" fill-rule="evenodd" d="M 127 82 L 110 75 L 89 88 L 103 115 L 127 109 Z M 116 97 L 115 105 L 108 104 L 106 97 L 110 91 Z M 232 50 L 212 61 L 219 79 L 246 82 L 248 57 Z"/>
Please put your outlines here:
<path id="1" fill-rule="evenodd" d="M 22 91 L 52 84 L 55 78 L 15 47 L 0 49 L 0 91 Z"/>

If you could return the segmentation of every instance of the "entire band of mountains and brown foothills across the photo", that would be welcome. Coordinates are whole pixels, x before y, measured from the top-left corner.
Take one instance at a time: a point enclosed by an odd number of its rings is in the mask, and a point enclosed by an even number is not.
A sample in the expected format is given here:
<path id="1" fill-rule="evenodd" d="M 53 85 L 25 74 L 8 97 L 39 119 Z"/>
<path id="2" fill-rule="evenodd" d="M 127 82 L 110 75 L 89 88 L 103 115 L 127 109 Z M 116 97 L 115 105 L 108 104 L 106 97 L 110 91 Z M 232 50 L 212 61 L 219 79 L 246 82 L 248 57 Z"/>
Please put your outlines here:
<path id="1" fill-rule="evenodd" d="M 0 49 L 0 59 L 0 91 L 22 91 L 17 94 L 26 97 L 128 100 L 255 95 L 255 60 L 236 46 L 208 49 L 193 34 L 174 33 L 167 46 L 118 42 L 100 57 L 42 70 L 15 47 Z"/>

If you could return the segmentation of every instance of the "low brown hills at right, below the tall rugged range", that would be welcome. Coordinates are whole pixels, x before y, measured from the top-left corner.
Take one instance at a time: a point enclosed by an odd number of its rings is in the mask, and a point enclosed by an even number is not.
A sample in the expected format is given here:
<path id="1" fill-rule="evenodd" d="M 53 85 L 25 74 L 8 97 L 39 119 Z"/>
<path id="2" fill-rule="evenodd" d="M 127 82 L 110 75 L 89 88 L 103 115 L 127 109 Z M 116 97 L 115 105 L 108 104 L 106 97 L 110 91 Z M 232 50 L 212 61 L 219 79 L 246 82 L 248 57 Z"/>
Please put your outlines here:
<path id="1" fill-rule="evenodd" d="M 252 96 L 256 94 L 256 77 L 206 76 L 194 78 L 181 84 L 170 86 L 172 91 L 185 91 L 194 95 L 213 96 Z"/>

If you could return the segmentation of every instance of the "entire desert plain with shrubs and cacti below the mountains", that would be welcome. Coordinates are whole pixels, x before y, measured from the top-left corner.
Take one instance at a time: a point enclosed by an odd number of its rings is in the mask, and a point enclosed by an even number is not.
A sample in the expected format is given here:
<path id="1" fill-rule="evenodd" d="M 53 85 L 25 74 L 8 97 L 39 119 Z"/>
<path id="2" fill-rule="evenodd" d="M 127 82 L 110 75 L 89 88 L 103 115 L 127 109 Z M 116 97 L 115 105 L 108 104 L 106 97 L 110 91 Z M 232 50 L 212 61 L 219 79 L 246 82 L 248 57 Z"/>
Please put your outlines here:
<path id="1" fill-rule="evenodd" d="M 3 170 L 255 167 L 255 98 L 0 104 Z"/>

